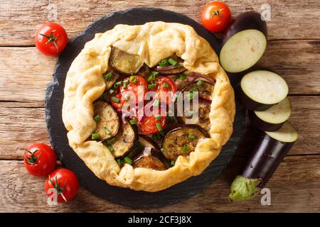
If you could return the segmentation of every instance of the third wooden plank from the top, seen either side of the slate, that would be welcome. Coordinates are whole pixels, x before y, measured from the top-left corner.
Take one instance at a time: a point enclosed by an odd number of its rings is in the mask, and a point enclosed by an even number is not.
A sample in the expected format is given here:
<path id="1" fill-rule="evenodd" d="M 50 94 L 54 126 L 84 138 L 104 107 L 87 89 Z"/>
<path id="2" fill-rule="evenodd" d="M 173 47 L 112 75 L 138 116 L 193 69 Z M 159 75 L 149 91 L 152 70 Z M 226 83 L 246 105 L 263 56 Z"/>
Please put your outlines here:
<path id="1" fill-rule="evenodd" d="M 299 140 L 289 155 L 320 154 L 320 96 L 289 96 L 290 122 L 299 131 Z M 33 142 L 48 143 L 43 106 L 29 103 L 0 103 L 0 160 L 21 160 L 23 150 Z M 250 151 L 257 130 L 247 119 L 245 135 L 235 155 Z M 320 165 L 320 164 L 319 164 Z"/>

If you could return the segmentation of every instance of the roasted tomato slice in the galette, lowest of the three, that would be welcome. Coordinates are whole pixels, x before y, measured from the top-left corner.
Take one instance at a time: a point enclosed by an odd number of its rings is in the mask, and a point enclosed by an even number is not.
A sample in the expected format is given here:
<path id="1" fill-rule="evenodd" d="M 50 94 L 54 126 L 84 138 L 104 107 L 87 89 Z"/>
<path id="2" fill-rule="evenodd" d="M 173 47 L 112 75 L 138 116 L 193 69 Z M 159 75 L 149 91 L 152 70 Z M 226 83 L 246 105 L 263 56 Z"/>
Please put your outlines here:
<path id="1" fill-rule="evenodd" d="M 149 101 L 144 106 L 144 116 L 139 121 L 139 129 L 144 134 L 159 133 L 166 127 L 166 109 L 159 104 L 159 100 Z M 139 113 L 139 112 L 138 112 Z"/>

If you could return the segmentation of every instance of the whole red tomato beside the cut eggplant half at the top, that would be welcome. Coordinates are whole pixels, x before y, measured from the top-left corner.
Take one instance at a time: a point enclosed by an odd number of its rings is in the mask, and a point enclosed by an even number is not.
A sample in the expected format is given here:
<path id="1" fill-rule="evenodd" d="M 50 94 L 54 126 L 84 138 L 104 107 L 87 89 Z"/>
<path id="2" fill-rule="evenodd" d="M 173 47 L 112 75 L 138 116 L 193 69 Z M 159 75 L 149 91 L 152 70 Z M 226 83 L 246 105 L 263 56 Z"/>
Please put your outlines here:
<path id="1" fill-rule="evenodd" d="M 209 2 L 201 14 L 201 23 L 213 33 L 223 31 L 230 22 L 231 11 L 220 1 Z"/>

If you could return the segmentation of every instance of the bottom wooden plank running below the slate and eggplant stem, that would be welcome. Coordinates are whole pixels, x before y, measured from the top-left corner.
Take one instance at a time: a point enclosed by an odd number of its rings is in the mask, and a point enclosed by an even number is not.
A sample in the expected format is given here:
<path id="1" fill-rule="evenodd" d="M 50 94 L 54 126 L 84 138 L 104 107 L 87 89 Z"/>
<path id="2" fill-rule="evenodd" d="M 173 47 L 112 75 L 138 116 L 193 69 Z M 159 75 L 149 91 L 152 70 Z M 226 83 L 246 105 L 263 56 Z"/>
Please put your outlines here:
<path id="1" fill-rule="evenodd" d="M 314 155 L 286 157 L 267 184 L 271 190 L 271 206 L 260 204 L 261 195 L 250 201 L 228 202 L 230 182 L 242 164 L 242 159 L 234 158 L 216 182 L 191 199 L 161 209 L 128 209 L 99 199 L 82 188 L 69 204 L 49 206 L 43 192 L 43 178 L 27 175 L 21 161 L 2 160 L 0 212 L 319 212 L 319 163 L 320 157 Z"/>

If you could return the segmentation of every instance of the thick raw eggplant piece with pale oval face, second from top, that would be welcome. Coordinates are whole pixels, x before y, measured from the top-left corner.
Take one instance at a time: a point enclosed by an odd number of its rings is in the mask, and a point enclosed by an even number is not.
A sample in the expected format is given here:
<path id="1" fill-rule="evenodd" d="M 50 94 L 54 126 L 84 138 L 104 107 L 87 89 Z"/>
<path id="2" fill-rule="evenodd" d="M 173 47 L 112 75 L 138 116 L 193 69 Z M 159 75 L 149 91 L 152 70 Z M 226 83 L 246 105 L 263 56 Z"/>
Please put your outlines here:
<path id="1" fill-rule="evenodd" d="M 265 111 L 278 104 L 289 88 L 282 77 L 274 72 L 257 70 L 245 74 L 240 82 L 239 98 L 252 111 Z"/>

